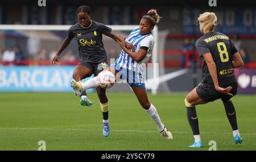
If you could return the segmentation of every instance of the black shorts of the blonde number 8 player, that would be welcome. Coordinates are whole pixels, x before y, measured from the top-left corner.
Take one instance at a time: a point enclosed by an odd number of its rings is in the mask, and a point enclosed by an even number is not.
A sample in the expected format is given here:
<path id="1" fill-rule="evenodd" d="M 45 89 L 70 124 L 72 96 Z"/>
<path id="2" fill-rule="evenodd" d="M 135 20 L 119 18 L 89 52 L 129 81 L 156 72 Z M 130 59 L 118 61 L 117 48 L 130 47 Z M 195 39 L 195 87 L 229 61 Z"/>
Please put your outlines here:
<path id="1" fill-rule="evenodd" d="M 230 90 L 230 93 L 234 95 L 237 94 L 237 82 L 233 82 L 231 84 L 223 85 L 222 88 L 227 88 L 228 86 L 232 86 L 232 89 Z M 228 102 L 230 98 L 232 98 L 231 95 L 223 94 L 220 92 L 217 92 L 214 88 L 214 85 L 207 84 L 205 82 L 200 82 L 199 85 L 196 87 L 196 92 L 199 95 L 201 99 L 205 102 L 212 102 L 216 99 L 221 98 L 223 102 Z"/>

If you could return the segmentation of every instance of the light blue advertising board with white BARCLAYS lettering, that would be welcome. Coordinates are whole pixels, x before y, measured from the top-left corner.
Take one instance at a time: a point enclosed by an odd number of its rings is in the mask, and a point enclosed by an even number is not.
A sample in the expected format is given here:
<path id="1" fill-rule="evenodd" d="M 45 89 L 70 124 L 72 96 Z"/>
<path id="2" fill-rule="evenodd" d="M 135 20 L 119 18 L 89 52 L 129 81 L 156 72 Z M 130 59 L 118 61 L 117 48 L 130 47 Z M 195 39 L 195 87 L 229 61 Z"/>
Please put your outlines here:
<path id="1" fill-rule="evenodd" d="M 73 66 L 0 67 L 0 92 L 72 92 L 69 83 L 74 69 Z"/>

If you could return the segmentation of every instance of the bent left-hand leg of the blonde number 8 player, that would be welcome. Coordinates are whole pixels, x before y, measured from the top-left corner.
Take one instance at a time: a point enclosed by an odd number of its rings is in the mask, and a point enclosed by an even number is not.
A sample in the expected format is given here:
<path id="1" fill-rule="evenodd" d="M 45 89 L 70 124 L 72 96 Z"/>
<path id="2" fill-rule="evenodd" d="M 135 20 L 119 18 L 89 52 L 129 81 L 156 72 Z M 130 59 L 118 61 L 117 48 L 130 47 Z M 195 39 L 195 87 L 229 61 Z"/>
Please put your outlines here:
<path id="1" fill-rule="evenodd" d="M 196 88 L 194 88 L 185 98 L 185 106 L 187 107 L 187 118 L 188 123 L 192 129 L 193 136 L 195 141 L 192 142 L 191 146 L 188 147 L 203 147 L 203 142 L 201 141 L 200 132 L 199 132 L 199 122 L 196 114 L 195 105 L 205 103 L 203 99 L 197 95 Z"/>

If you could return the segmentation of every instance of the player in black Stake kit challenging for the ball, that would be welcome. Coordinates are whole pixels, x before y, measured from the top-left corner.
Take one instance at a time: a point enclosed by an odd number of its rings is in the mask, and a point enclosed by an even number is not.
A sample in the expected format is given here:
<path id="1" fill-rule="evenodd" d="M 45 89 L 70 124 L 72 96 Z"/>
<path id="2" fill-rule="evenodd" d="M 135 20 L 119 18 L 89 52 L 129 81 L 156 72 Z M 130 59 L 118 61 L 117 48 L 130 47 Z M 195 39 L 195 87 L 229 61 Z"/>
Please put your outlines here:
<path id="1" fill-rule="evenodd" d="M 122 38 L 113 34 L 112 29 L 102 23 L 95 22 L 91 19 L 91 9 L 88 6 L 80 6 L 77 9 L 78 23 L 71 26 L 68 30 L 68 36 L 60 45 L 56 56 L 52 59 L 52 63 L 59 61 L 61 52 L 68 46 L 73 38 L 79 45 L 79 65 L 73 71 L 72 88 L 74 81 L 80 81 L 92 74 L 97 76 L 101 70 L 106 68 L 107 55 L 102 43 L 102 34 L 109 36 L 113 40 L 122 41 Z M 99 87 L 96 88 L 98 98 L 100 99 L 101 111 L 103 114 L 103 134 L 109 136 L 108 110 L 109 102 L 106 97 L 106 90 Z M 76 94 L 77 95 L 77 94 Z M 80 95 L 81 105 L 91 106 L 92 102 L 87 98 L 85 91 Z"/>

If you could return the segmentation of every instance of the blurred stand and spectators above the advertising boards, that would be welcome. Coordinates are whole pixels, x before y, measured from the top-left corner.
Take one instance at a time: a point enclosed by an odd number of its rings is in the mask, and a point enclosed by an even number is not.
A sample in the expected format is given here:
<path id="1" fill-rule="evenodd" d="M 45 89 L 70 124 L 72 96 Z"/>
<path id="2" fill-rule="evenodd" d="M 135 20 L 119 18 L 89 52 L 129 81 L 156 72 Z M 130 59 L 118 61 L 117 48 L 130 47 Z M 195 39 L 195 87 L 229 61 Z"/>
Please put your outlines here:
<path id="1" fill-rule="evenodd" d="M 255 1 L 256 2 L 256 1 Z M 39 7 L 37 0 L 1 1 L 1 24 L 75 24 L 80 5 L 92 8 L 92 19 L 106 25 L 138 24 L 149 9 L 158 10 L 163 18 L 158 24 L 163 31 L 164 67 L 190 68 L 199 61 L 195 41 L 201 34 L 196 18 L 204 11 L 214 11 L 218 17 L 217 31 L 232 39 L 247 68 L 256 67 L 256 5 L 253 1 L 46 1 Z M 49 65 L 67 31 L 0 31 L 0 59 L 3 65 Z M 105 47 L 108 43 L 105 44 Z M 107 48 L 110 57 L 117 57 L 118 48 Z M 77 45 L 73 42 L 61 55 L 63 64 L 77 64 Z"/>

